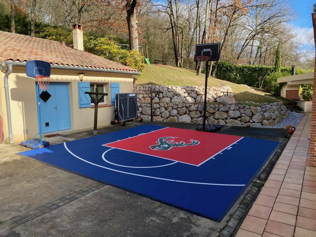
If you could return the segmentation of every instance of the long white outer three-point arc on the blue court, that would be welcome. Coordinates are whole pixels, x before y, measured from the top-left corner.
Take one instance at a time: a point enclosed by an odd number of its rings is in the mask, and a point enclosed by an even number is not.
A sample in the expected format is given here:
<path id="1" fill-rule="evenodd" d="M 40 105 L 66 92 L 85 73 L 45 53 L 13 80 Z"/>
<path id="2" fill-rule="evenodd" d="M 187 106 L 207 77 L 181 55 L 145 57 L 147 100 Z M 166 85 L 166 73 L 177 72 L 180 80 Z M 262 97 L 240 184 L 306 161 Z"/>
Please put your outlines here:
<path id="1" fill-rule="evenodd" d="M 64 147 L 65 149 L 73 156 L 75 156 L 76 158 L 78 158 L 79 160 L 82 160 L 84 162 L 87 162 L 88 164 L 97 166 L 97 167 L 101 167 L 104 169 L 108 169 L 108 170 L 112 170 L 115 172 L 119 172 L 119 173 L 125 173 L 125 174 L 131 174 L 131 175 L 135 175 L 135 176 L 140 176 L 140 177 L 145 177 L 145 178 L 151 178 L 151 179 L 160 179 L 160 180 L 166 180 L 166 181 L 172 181 L 172 182 L 180 182 L 180 183 L 189 183 L 189 184 L 202 184 L 202 185 L 217 185 L 217 186 L 245 186 L 244 184 L 212 184 L 212 183 L 199 183 L 199 182 L 190 182 L 190 181 L 183 181 L 183 180 L 175 180 L 175 179 L 163 179 L 163 178 L 158 178 L 158 177 L 152 177 L 152 176 L 147 176 L 147 175 L 141 175 L 141 174 L 136 174 L 136 173 L 128 173 L 128 172 L 124 172 L 124 171 L 120 171 L 120 170 L 116 170 L 116 169 L 111 169 L 108 167 L 104 167 L 98 164 L 94 164 L 90 161 L 86 161 L 82 158 L 80 158 L 79 156 L 73 154 L 67 147 L 66 143 L 64 143 Z"/>

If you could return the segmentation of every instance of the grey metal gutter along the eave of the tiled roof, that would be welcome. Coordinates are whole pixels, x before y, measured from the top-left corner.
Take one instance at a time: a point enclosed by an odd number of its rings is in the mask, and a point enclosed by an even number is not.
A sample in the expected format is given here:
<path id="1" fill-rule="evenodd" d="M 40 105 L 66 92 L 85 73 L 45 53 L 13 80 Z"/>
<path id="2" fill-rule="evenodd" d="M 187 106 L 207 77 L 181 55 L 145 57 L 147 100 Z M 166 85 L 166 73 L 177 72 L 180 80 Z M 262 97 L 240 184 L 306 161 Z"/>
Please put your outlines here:
<path id="1" fill-rule="evenodd" d="M 22 62 L 14 62 L 14 61 L 5 61 L 4 65 L 13 65 L 13 66 L 20 66 L 25 67 L 26 63 Z M 63 66 L 63 65 L 52 65 L 51 68 L 55 69 L 63 69 L 63 70 L 78 70 L 78 71 L 96 71 L 96 72 L 113 72 L 113 73 L 123 73 L 123 74 L 132 74 L 132 75 L 139 75 L 140 72 L 138 71 L 124 71 L 124 70 L 112 70 L 112 69 L 101 69 L 101 68 L 86 68 L 86 67 L 75 67 L 75 66 Z"/>

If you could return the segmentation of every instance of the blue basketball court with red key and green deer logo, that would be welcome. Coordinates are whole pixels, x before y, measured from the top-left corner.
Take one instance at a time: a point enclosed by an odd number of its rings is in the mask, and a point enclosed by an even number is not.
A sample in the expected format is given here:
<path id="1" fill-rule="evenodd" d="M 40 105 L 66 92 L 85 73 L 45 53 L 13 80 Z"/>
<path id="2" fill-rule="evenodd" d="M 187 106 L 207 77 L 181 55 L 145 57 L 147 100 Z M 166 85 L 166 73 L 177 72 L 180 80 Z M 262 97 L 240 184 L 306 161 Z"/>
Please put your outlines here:
<path id="1" fill-rule="evenodd" d="M 19 154 L 221 221 L 278 145 L 143 125 Z"/>

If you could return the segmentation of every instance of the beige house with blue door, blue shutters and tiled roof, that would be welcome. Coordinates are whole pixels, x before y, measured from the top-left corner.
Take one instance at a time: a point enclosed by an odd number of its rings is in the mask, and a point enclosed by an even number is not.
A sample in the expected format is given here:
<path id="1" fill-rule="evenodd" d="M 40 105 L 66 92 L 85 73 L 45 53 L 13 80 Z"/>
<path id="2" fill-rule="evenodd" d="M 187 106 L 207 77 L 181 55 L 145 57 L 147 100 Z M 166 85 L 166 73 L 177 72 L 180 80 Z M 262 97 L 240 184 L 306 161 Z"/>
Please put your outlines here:
<path id="1" fill-rule="evenodd" d="M 49 89 L 40 91 L 43 133 L 92 128 L 94 107 L 84 92 L 95 88 L 108 93 L 99 104 L 98 125 L 110 124 L 114 93 L 133 91 L 133 76 L 139 71 L 84 52 L 82 25 L 73 25 L 73 40 L 74 48 L 70 48 L 52 40 L 0 31 L 4 142 L 30 139 L 39 129 L 37 82 L 26 76 L 28 60 L 51 64 Z"/>

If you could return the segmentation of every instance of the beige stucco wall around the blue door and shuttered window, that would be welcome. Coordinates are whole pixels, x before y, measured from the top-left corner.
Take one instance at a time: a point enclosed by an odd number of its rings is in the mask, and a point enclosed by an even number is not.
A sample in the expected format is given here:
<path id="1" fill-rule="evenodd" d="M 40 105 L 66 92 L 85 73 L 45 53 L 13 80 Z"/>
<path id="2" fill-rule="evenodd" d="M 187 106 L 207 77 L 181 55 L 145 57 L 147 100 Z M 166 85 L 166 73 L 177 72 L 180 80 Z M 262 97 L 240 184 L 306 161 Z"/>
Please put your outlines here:
<path id="1" fill-rule="evenodd" d="M 71 129 L 79 130 L 92 128 L 94 122 L 93 108 L 79 108 L 78 82 L 76 70 L 51 70 L 52 82 L 69 82 Z M 84 72 L 83 82 L 120 83 L 120 92 L 133 91 L 133 76 L 122 73 Z M 4 73 L 0 72 L 0 115 L 4 122 L 5 142 L 8 142 L 8 123 L 4 94 Z M 25 67 L 13 67 L 9 76 L 10 107 L 12 118 L 13 140 L 21 141 L 32 138 L 38 132 L 37 105 L 35 80 L 25 75 Z M 111 92 L 109 84 L 106 87 L 108 96 L 106 102 L 110 104 Z M 114 106 L 98 109 L 98 126 L 110 124 Z M 28 134 L 24 135 L 24 130 Z"/>

